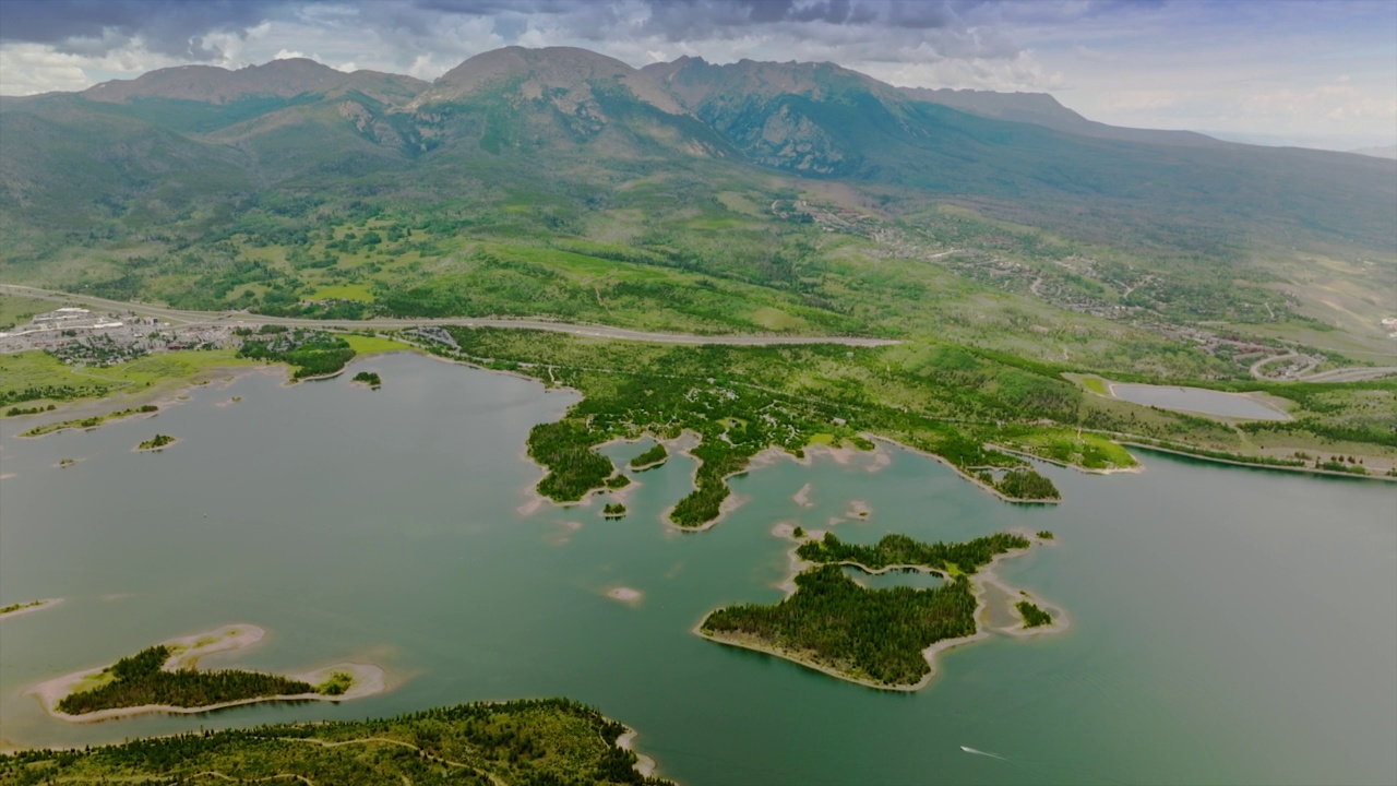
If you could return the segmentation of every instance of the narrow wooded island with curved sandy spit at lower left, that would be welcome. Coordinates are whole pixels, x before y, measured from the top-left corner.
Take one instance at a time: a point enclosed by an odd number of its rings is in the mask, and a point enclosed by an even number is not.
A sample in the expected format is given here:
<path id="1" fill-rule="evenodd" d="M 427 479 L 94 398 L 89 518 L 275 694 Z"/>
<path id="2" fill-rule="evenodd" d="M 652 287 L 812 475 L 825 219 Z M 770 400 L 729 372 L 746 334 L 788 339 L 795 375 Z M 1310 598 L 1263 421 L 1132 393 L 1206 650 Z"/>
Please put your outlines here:
<path id="1" fill-rule="evenodd" d="M 264 635 L 256 625 L 225 625 L 147 648 L 110 666 L 50 680 L 31 692 L 49 715 L 88 722 L 154 712 L 200 713 L 265 701 L 344 701 L 384 689 L 383 670 L 363 663 L 338 663 L 291 677 L 196 669 L 200 657 L 246 648 Z"/>

